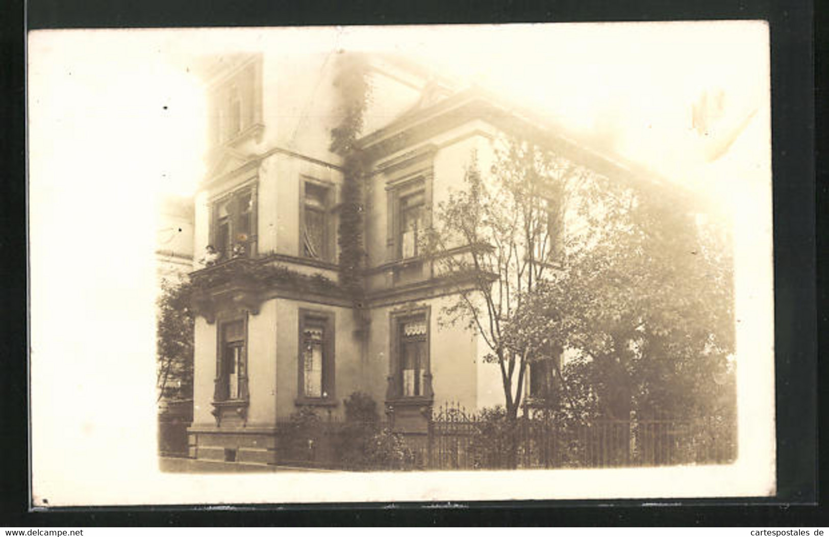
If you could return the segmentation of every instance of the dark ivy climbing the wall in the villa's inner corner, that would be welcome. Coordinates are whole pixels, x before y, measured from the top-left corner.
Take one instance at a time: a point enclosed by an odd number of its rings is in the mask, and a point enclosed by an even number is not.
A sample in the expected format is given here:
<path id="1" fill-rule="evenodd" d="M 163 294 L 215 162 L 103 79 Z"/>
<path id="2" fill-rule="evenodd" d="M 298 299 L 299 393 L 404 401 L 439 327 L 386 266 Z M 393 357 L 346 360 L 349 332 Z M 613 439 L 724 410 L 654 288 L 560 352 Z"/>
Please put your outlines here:
<path id="1" fill-rule="evenodd" d="M 371 85 L 368 82 L 368 61 L 358 53 L 340 52 L 334 88 L 339 95 L 342 121 L 331 130 L 331 151 L 342 156 L 342 208 L 338 240 L 340 244 L 340 284 L 351 296 L 355 307 L 362 302 L 363 245 L 363 182 L 369 163 L 357 148 L 356 140 L 363 128 Z"/>

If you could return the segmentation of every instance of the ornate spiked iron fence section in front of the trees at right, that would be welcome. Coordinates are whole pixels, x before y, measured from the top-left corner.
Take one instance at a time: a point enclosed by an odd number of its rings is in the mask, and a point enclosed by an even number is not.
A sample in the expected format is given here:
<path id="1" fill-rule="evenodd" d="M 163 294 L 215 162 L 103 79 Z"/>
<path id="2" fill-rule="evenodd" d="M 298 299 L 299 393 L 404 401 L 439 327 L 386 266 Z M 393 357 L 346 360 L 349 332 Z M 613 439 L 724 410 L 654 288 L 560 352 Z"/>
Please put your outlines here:
<path id="1" fill-rule="evenodd" d="M 447 405 L 429 426 L 429 460 L 442 469 L 724 464 L 736 458 L 735 433 L 735 423 L 721 417 L 511 422 Z"/>

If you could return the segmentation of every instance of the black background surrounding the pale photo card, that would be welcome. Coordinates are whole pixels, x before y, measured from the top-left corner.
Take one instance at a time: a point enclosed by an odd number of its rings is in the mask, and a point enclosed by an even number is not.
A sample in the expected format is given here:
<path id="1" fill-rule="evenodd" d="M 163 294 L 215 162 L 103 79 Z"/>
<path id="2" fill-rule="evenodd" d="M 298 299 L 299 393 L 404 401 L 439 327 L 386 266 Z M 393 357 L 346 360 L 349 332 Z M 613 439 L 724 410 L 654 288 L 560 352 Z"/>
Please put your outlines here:
<path id="1" fill-rule="evenodd" d="M 826 238 L 816 236 L 816 208 L 826 218 L 829 188 L 825 131 L 815 139 L 814 103 L 825 112 L 825 90 L 813 74 L 827 72 L 825 12 L 813 20 L 812 3 L 747 0 L 642 0 L 636 2 L 380 2 L 379 0 L 10 0 L 0 7 L 0 526 L 94 525 L 829 525 L 817 506 L 817 386 L 826 367 L 829 320 L 825 278 Z M 496 502 L 452 506 L 399 504 L 342 506 L 240 506 L 199 508 L 88 508 L 28 512 L 27 430 L 27 200 L 25 160 L 25 59 L 27 29 L 89 27 L 229 27 L 350 24 L 596 22 L 765 19 L 772 44 L 775 341 L 778 424 L 778 495 L 736 500 Z M 817 36 L 817 37 L 815 37 Z M 566 54 L 566 51 L 561 51 Z M 822 80 L 820 80 L 822 82 Z M 816 197 L 817 196 L 817 197 Z M 816 203 L 817 201 L 817 203 Z M 825 227 L 825 225 L 821 226 Z M 817 239 L 817 243 L 816 243 Z M 817 245 L 817 249 L 816 249 Z M 816 253 L 819 253 L 816 257 Z M 817 261 L 817 264 L 816 264 Z M 820 332 L 817 330 L 821 328 Z M 769 395 L 771 396 L 771 395 Z M 823 433 L 825 434 L 825 433 Z M 824 472 L 821 472 L 822 474 Z M 822 479 L 820 480 L 823 481 Z M 114 484 L 116 485 L 116 484 Z M 117 485 L 116 485 L 117 486 Z M 825 497 L 824 495 L 821 495 Z M 821 502 L 822 503 L 822 502 Z"/>

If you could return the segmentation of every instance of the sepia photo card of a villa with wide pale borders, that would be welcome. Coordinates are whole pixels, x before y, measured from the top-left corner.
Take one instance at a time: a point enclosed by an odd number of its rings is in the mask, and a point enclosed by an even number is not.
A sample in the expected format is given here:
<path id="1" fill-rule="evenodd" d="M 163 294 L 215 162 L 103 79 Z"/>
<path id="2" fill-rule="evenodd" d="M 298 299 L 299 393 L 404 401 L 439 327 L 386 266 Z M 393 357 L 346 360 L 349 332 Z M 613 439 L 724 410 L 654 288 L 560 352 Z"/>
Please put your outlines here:
<path id="1" fill-rule="evenodd" d="M 141 274 L 118 280 L 140 330 L 103 337 L 143 337 L 117 367 L 50 353 L 32 293 L 36 503 L 773 494 L 763 22 L 46 31 L 30 52 L 33 266 L 61 199 L 37 136 L 78 84 L 118 125 L 96 136 L 134 140 L 85 192 L 128 189 L 105 211 L 138 237 L 113 263 Z M 67 373 L 81 400 L 124 389 L 140 414 L 73 414 L 83 442 L 122 427 L 96 468 L 133 460 L 147 487 L 61 488 L 38 398 L 67 349 L 109 362 Z"/>

